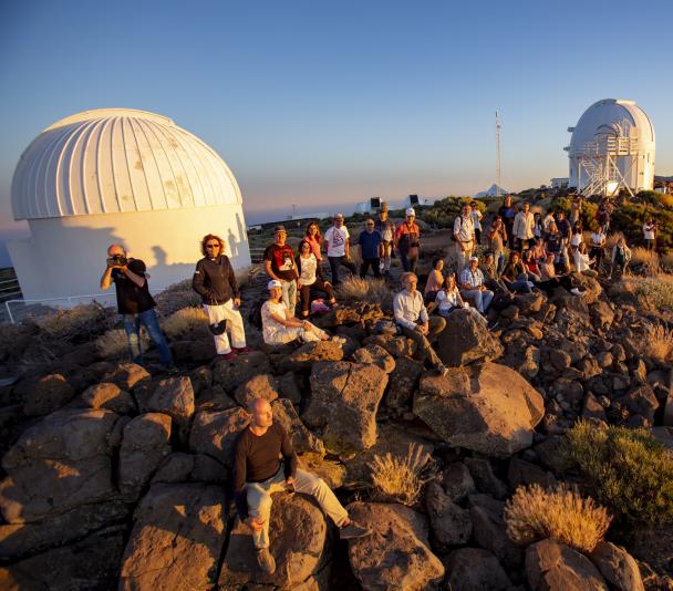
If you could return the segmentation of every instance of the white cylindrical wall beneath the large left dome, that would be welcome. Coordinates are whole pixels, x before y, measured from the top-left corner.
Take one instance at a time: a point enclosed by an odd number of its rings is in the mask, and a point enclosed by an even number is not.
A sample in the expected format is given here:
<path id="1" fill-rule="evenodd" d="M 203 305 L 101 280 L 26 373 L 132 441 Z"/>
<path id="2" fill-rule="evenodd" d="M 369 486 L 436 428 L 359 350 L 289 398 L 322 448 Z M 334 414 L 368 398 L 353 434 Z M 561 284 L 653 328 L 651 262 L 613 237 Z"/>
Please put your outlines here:
<path id="1" fill-rule="evenodd" d="M 100 293 L 113 242 L 145 261 L 153 289 L 190 278 L 209 232 L 225 240 L 235 269 L 250 265 L 240 204 L 31 219 L 29 227 L 31 238 L 8 245 L 25 299 Z"/>

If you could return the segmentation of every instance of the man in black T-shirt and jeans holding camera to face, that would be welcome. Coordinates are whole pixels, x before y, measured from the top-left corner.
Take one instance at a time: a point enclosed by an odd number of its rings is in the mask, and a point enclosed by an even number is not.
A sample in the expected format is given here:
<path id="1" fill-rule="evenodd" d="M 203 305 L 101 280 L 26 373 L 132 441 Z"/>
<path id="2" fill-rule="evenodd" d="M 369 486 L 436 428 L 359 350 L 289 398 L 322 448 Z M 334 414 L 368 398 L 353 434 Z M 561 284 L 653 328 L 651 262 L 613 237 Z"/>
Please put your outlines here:
<path id="1" fill-rule="evenodd" d="M 124 317 L 124 330 L 134 363 L 143 363 L 141 324 L 144 324 L 159 352 L 162 363 L 173 372 L 173 355 L 159 329 L 154 310 L 156 302 L 149 293 L 145 270 L 145 263 L 141 259 L 127 257 L 121 245 L 111 245 L 107 248 L 107 267 L 101 278 L 101 289 L 107 290 L 114 281 L 117 309 Z"/>

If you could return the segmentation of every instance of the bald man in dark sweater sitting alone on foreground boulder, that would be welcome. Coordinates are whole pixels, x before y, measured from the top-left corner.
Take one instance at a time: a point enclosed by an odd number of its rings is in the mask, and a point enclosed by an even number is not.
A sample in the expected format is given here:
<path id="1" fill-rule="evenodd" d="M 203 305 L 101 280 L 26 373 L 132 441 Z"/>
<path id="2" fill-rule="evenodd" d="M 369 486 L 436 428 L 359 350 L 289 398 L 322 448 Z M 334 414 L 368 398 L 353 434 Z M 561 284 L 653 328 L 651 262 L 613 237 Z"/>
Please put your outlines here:
<path id="1" fill-rule="evenodd" d="M 234 495 L 241 520 L 252 528 L 257 563 L 272 574 L 276 561 L 269 551 L 269 519 L 273 492 L 303 492 L 315 498 L 330 516 L 341 539 L 362 538 L 370 530 L 349 518 L 334 492 L 322 478 L 297 467 L 297 454 L 287 432 L 273 423 L 271 405 L 265 398 L 253 400 L 248 412 L 251 423 L 234 442 Z M 282 460 L 279 459 L 282 456 Z"/>

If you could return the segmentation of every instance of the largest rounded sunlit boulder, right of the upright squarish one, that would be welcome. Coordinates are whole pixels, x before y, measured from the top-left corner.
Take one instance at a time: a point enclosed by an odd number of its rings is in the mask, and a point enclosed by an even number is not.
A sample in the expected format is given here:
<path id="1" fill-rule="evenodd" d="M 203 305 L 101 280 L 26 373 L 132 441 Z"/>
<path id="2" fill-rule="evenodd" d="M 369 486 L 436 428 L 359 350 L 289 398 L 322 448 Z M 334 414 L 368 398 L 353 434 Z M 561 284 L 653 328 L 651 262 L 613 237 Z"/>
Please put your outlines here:
<path id="1" fill-rule="evenodd" d="M 449 445 L 508 457 L 531 445 L 545 404 L 517 372 L 485 363 L 422 376 L 413 412 Z"/>

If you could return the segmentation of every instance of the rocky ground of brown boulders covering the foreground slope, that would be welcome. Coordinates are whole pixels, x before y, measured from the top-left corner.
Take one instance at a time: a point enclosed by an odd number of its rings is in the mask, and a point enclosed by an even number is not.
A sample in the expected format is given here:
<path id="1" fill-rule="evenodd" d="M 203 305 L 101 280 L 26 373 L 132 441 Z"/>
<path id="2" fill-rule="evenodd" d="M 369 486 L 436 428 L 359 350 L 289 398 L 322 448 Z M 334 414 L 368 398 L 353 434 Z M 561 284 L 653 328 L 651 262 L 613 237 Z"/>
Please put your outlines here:
<path id="1" fill-rule="evenodd" d="M 582 282 L 583 298 L 518 297 L 491 313 L 491 332 L 456 312 L 437 342 L 451 365 L 444 377 L 423 370 L 411 341 L 373 333 L 390 310 L 371 302 L 319 321 L 346 338 L 342 349 L 269 349 L 248 326 L 257 350 L 213 362 L 211 339 L 197 329 L 170 343 L 178 376 L 102 360 L 86 339 L 21 365 L 0 390 L 0 588 L 673 588 L 665 527 L 590 556 L 553 540 L 517 547 L 505 530 L 517 486 L 563 478 L 556 449 L 578 417 L 651 428 L 673 446 L 671 366 L 648 355 L 646 319 L 619 290 Z M 247 289 L 251 302 L 263 279 Z M 35 330 L 11 333 L 6 369 L 17 373 L 17 360 L 34 353 Z M 272 577 L 253 564 L 228 486 L 231 443 L 258 396 L 271 401 L 301 464 L 373 530 L 339 541 L 312 500 L 278 495 Z M 374 497 L 374 457 L 406 456 L 410 444 L 433 457 L 421 500 Z"/>

